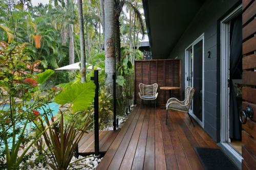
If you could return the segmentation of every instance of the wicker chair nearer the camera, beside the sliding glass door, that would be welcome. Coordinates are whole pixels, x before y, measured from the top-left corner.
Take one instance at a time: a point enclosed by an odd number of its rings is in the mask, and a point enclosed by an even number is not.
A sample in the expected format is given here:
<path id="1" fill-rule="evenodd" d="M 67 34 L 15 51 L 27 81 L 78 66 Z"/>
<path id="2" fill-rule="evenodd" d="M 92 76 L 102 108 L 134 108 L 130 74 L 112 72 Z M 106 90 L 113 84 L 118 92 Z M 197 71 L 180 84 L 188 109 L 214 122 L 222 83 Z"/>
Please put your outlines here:
<path id="1" fill-rule="evenodd" d="M 195 126 L 190 114 L 188 113 L 189 108 L 191 106 L 191 102 L 193 99 L 193 96 L 195 94 L 195 88 L 193 87 L 186 87 L 185 89 L 185 100 L 179 101 L 176 98 L 170 98 L 166 103 L 166 124 L 167 124 L 167 116 L 168 116 L 168 110 L 176 110 L 185 112 L 188 114 L 193 126 Z"/>

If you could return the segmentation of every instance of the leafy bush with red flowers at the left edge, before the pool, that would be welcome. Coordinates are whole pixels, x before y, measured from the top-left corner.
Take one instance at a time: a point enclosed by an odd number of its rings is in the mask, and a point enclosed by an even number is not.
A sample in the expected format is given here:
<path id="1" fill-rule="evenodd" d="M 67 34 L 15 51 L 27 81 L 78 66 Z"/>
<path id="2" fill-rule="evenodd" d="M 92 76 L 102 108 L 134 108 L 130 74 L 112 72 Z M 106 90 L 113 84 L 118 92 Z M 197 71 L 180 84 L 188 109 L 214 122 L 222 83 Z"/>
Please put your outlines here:
<path id="1" fill-rule="evenodd" d="M 28 158 L 32 145 L 48 130 L 46 128 L 36 136 L 26 134 L 29 124 L 40 115 L 35 108 L 49 103 L 54 96 L 53 91 L 46 96 L 40 95 L 37 80 L 44 83 L 51 71 L 40 73 L 38 79 L 32 72 L 37 70 L 39 61 L 31 64 L 28 54 L 30 50 L 26 43 L 0 42 L 0 145 L 3 146 L 1 153 L 4 153 L 1 167 L 8 170 L 18 169 L 19 164 Z M 24 150 L 21 151 L 20 147 Z"/>

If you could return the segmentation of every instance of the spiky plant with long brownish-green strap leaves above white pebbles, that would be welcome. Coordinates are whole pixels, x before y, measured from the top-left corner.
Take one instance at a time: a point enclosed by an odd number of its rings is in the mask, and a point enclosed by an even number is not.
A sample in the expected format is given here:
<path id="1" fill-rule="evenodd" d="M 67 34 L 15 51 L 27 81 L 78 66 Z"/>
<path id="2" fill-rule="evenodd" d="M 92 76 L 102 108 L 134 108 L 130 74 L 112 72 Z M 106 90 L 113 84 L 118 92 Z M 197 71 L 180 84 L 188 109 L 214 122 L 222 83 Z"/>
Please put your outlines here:
<path id="1" fill-rule="evenodd" d="M 48 147 L 48 152 L 51 161 L 48 164 L 54 170 L 66 170 L 71 165 L 70 162 L 76 152 L 78 142 L 81 140 L 91 121 L 89 116 L 84 120 L 81 129 L 76 129 L 78 119 L 73 117 L 72 121 L 65 123 L 63 114 L 60 111 L 60 118 L 56 122 L 52 113 L 50 112 L 51 119 L 48 118 L 48 111 L 45 110 L 44 120 L 46 125 L 40 118 L 41 132 L 45 132 L 46 127 L 49 127 L 48 132 L 43 133 L 45 143 Z M 51 123 L 53 122 L 53 123 Z"/>

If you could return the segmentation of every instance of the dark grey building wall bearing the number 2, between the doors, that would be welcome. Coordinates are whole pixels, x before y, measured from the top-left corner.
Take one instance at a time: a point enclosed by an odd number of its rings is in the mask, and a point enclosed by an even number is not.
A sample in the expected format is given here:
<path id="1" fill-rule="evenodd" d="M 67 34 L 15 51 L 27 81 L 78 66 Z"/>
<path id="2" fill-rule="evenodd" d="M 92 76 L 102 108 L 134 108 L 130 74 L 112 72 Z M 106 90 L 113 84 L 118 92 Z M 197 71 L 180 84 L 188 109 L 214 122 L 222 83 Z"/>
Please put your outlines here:
<path id="1" fill-rule="evenodd" d="M 238 0 L 206 0 L 181 36 L 168 58 L 182 60 L 182 88 L 185 86 L 185 48 L 204 33 L 204 130 L 220 141 L 220 55 L 218 52 L 218 20 L 242 4 Z M 210 51 L 210 58 L 208 58 Z"/>

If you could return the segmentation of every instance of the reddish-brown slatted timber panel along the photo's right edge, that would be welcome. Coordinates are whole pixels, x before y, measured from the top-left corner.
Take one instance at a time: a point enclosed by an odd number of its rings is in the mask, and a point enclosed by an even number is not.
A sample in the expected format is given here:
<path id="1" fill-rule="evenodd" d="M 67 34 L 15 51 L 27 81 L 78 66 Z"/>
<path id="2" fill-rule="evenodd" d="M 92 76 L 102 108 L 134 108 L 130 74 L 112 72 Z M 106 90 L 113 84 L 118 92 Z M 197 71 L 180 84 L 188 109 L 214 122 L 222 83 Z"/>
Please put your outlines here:
<path id="1" fill-rule="evenodd" d="M 242 169 L 256 169 L 256 1 L 243 0 L 243 109 L 254 115 L 242 125 Z"/>

